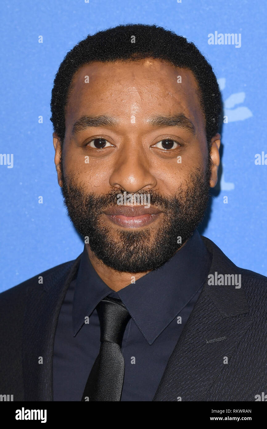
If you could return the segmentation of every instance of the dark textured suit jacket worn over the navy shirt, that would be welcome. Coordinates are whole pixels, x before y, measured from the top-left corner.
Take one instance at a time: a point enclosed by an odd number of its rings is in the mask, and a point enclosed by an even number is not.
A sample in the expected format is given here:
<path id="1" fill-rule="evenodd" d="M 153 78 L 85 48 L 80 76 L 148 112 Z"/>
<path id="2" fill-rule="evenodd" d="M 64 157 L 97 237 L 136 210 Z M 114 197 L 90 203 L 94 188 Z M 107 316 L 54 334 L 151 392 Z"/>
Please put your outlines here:
<path id="1" fill-rule="evenodd" d="M 255 401 L 267 393 L 267 278 L 238 268 L 201 238 L 212 254 L 210 273 L 240 274 L 241 287 L 212 286 L 207 278 L 153 401 Z M 0 294 L 0 394 L 53 400 L 57 319 L 80 257 Z"/>

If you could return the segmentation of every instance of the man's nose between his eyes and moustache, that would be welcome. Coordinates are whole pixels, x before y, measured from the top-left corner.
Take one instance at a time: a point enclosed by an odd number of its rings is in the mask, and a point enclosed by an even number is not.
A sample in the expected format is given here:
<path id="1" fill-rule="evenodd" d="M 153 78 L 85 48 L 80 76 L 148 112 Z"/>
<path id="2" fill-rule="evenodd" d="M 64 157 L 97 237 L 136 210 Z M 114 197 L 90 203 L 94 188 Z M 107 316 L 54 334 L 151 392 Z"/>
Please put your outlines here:
<path id="1" fill-rule="evenodd" d="M 109 178 L 111 187 L 122 187 L 128 193 L 137 193 L 142 189 L 153 189 L 157 181 L 150 171 L 149 159 L 137 145 L 124 148 L 116 160 Z"/>

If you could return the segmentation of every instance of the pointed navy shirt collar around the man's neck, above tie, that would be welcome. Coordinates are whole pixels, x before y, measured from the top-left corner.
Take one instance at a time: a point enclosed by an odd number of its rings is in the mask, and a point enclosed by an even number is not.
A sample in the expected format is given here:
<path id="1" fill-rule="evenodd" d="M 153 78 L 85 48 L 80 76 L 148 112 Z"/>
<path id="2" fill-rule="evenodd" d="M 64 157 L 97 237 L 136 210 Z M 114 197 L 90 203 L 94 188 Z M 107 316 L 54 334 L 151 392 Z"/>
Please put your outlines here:
<path id="1" fill-rule="evenodd" d="M 144 338 L 152 344 L 201 289 L 210 263 L 210 254 L 195 230 L 163 266 L 114 293 L 96 273 L 84 246 L 72 307 L 74 335 L 83 325 L 84 317 L 90 316 L 96 305 L 112 293 L 122 300 Z"/>

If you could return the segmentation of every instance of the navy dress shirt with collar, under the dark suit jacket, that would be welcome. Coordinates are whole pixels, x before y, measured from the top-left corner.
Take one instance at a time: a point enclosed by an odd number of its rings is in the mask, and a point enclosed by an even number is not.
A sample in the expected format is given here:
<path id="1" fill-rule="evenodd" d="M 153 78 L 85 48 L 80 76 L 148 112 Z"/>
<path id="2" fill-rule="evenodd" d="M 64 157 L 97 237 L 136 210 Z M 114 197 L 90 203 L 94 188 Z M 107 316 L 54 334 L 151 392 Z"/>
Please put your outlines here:
<path id="1" fill-rule="evenodd" d="M 84 246 L 57 323 L 54 401 L 81 401 L 100 347 L 96 305 L 108 295 L 121 299 L 131 315 L 121 348 L 125 361 L 121 401 L 152 401 L 210 263 L 210 254 L 195 230 L 171 260 L 116 293 L 96 273 Z"/>

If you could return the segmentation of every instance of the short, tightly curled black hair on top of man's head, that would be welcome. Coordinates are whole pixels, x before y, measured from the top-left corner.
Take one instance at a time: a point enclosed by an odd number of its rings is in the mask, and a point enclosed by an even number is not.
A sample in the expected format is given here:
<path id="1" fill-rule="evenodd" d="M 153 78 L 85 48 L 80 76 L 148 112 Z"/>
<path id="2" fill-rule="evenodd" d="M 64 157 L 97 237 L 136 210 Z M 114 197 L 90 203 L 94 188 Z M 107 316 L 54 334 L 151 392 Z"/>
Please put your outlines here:
<path id="1" fill-rule="evenodd" d="M 118 25 L 93 36 L 88 35 L 66 54 L 55 76 L 51 97 L 50 120 L 61 145 L 65 137 L 65 106 L 75 72 L 92 61 L 112 62 L 147 57 L 165 60 L 192 71 L 199 87 L 210 150 L 210 139 L 218 132 L 222 113 L 221 94 L 212 66 L 185 37 L 163 27 L 147 24 Z"/>

